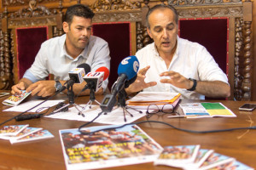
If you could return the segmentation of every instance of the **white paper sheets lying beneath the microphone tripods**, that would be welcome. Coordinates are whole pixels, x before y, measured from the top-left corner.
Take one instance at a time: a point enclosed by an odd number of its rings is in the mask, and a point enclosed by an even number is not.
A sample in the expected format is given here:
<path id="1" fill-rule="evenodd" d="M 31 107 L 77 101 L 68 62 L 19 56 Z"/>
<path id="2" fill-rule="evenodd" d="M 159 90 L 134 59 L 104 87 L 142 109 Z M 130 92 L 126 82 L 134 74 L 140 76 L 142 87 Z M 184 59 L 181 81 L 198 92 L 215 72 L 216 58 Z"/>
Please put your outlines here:
<path id="1" fill-rule="evenodd" d="M 84 105 L 80 105 L 80 106 L 84 106 Z M 78 108 L 80 111 L 82 111 L 82 109 L 80 107 L 78 107 Z M 124 119 L 123 109 L 120 107 L 113 109 L 113 111 L 111 111 L 107 115 L 104 115 L 102 113 L 102 115 L 99 116 L 94 122 L 118 125 L 118 124 L 122 124 L 122 123 L 134 122 L 137 119 L 141 118 L 142 116 L 146 115 L 145 111 L 143 111 L 143 113 L 139 113 L 138 111 L 133 111 L 131 109 L 129 109 L 128 111 L 131 112 L 133 117 L 131 117 L 128 113 L 125 113 L 126 122 Z M 102 110 L 99 105 L 92 105 L 91 109 L 89 109 L 89 107 L 87 106 L 87 108 L 83 111 L 84 116 L 79 115 L 79 111 L 76 108 L 71 107 L 68 109 L 67 112 L 58 112 L 53 115 L 44 116 L 44 117 L 90 122 L 100 112 L 102 112 Z"/>

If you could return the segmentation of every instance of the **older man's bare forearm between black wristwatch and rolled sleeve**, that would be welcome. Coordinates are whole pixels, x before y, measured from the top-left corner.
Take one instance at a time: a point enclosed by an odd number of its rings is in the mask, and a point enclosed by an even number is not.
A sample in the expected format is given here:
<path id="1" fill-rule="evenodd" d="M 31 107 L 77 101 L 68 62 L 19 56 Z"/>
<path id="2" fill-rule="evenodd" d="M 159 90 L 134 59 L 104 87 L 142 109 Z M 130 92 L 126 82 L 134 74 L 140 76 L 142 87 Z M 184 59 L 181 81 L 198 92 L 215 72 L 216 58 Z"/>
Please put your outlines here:
<path id="1" fill-rule="evenodd" d="M 230 96 L 230 86 L 225 82 L 214 81 L 214 82 L 197 82 L 195 92 L 203 94 L 207 97 L 223 97 L 227 98 Z"/>

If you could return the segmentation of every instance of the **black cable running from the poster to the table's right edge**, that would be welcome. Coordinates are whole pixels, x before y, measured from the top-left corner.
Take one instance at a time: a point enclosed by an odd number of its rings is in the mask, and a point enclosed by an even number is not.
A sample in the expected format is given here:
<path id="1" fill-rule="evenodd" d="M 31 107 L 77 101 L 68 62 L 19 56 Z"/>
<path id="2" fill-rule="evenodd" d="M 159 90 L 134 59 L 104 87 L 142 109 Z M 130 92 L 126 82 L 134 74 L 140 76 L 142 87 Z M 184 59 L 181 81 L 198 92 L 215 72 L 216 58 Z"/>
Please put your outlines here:
<path id="1" fill-rule="evenodd" d="M 220 133 L 220 132 L 228 132 L 228 131 L 234 131 L 234 130 L 241 130 L 241 129 L 256 129 L 256 126 L 253 126 L 253 127 L 234 127 L 234 128 L 224 128 L 224 129 L 219 129 L 219 130 L 207 130 L 207 131 L 196 131 L 196 130 L 189 130 L 189 129 L 184 129 L 184 128 L 180 128 L 180 127 L 175 127 L 173 126 L 172 124 L 170 123 L 167 123 L 167 122 L 160 122 L 160 121 L 142 121 L 142 122 L 131 122 L 131 123 L 126 123 L 126 124 L 123 124 L 119 127 L 107 127 L 107 128 L 102 128 L 102 129 L 98 129 L 96 131 L 93 131 L 93 132 L 90 132 L 90 133 L 84 133 L 83 131 L 81 131 L 80 127 L 79 127 L 79 132 L 81 134 L 84 134 L 84 135 L 90 135 L 92 133 L 96 133 L 96 132 L 100 132 L 102 130 L 110 130 L 110 129 L 113 129 L 113 128 L 121 128 L 121 127 L 125 127 L 127 125 L 138 125 L 138 124 L 142 124 L 142 123 L 146 123 L 146 122 L 154 122 L 154 123 L 160 123 L 160 124 L 165 124 L 166 126 L 169 126 L 169 127 L 172 127 L 174 129 L 177 129 L 177 130 L 180 130 L 180 131 L 183 131 L 183 132 L 186 132 L 186 133 Z M 82 125 L 83 127 L 85 126 Z M 81 126 L 81 127 L 82 127 Z"/>

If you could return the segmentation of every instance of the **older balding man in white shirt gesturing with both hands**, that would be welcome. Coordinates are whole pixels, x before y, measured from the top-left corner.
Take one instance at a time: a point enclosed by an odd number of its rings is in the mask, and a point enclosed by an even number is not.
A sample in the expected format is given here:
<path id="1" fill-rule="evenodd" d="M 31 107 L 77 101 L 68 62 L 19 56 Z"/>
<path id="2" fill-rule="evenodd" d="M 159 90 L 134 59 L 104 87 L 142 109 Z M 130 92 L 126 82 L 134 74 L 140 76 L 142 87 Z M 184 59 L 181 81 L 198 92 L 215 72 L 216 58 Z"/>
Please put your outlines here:
<path id="1" fill-rule="evenodd" d="M 137 52 L 142 69 L 127 94 L 143 90 L 178 92 L 183 99 L 230 96 L 228 79 L 207 49 L 177 36 L 175 8 L 155 5 L 146 21 L 154 42 Z"/>

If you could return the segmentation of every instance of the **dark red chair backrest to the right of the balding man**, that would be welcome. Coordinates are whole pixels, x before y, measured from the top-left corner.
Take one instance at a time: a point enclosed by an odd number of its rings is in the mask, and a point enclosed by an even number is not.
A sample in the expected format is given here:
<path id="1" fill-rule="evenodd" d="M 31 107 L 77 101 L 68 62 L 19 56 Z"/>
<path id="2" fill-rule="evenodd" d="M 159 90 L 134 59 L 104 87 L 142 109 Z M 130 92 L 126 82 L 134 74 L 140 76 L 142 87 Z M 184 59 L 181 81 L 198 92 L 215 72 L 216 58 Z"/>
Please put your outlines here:
<path id="1" fill-rule="evenodd" d="M 179 20 L 179 35 L 203 45 L 229 77 L 229 18 Z M 212 99 L 212 98 L 206 98 Z M 214 98 L 216 99 L 216 98 Z M 222 99 L 222 98 L 218 98 Z"/>

